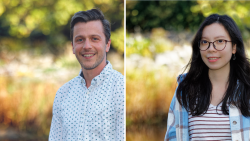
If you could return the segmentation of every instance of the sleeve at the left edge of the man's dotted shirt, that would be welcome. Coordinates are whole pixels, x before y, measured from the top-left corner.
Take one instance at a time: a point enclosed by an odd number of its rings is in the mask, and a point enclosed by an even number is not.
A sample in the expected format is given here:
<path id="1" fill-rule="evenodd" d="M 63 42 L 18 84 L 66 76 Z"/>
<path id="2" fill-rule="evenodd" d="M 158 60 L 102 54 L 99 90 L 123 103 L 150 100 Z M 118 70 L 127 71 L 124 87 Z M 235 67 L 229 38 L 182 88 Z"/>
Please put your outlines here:
<path id="1" fill-rule="evenodd" d="M 51 121 L 49 141 L 62 141 L 62 120 L 61 120 L 61 91 L 58 90 L 54 104 L 53 104 L 53 116 Z"/>

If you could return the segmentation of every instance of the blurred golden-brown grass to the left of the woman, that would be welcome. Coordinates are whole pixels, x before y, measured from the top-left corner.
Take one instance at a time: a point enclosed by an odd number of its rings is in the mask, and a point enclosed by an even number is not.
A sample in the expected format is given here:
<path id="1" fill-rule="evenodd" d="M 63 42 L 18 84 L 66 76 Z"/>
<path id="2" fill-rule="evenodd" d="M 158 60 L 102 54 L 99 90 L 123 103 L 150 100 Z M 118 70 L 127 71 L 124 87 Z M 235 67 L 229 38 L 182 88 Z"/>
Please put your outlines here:
<path id="1" fill-rule="evenodd" d="M 166 120 L 174 95 L 177 75 L 169 75 L 167 69 L 145 68 L 126 71 L 126 121 L 154 124 Z"/>

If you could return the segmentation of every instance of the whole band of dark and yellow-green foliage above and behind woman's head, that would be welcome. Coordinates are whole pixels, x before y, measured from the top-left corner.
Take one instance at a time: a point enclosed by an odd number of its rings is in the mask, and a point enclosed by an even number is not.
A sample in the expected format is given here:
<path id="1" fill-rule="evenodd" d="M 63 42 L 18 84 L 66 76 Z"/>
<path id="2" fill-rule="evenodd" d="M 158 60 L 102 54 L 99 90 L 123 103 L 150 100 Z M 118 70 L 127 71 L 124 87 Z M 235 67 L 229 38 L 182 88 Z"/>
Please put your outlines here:
<path id="1" fill-rule="evenodd" d="M 205 17 L 218 13 L 232 17 L 244 39 L 250 37 L 249 1 L 128 1 L 126 5 L 126 29 L 136 32 L 151 31 L 155 27 L 165 30 L 196 31 Z"/>

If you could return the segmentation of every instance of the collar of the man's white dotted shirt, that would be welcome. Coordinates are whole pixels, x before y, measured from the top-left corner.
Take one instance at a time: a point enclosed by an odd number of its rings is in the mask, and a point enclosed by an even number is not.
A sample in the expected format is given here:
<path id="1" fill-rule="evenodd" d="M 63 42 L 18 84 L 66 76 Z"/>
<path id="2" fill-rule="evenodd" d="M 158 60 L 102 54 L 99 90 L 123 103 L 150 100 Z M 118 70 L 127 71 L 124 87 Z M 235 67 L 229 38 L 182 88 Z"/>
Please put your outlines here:
<path id="1" fill-rule="evenodd" d="M 106 63 L 107 63 L 107 65 L 103 68 L 101 73 L 91 80 L 91 85 L 94 85 L 94 86 L 99 85 L 100 83 L 102 83 L 110 75 L 110 72 L 112 71 L 112 65 L 108 60 L 106 61 Z M 84 79 L 82 69 L 81 69 L 78 76 L 81 77 L 82 82 L 84 83 L 84 85 L 86 85 L 86 81 Z"/>

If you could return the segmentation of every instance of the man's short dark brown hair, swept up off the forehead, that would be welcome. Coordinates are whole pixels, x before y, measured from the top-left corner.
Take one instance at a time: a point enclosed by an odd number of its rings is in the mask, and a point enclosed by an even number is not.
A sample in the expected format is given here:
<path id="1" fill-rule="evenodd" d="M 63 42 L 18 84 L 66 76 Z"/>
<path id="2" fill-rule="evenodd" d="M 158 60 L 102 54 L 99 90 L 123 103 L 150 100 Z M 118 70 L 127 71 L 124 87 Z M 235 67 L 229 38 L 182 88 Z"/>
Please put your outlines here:
<path id="1" fill-rule="evenodd" d="M 106 44 L 110 39 L 110 23 L 108 20 L 104 18 L 103 13 L 98 9 L 91 9 L 87 11 L 79 11 L 75 13 L 75 15 L 71 18 L 70 22 L 70 40 L 73 42 L 73 33 L 74 33 L 74 26 L 78 22 L 89 22 L 89 21 L 96 21 L 100 20 L 103 25 L 103 33 L 106 38 Z"/>

